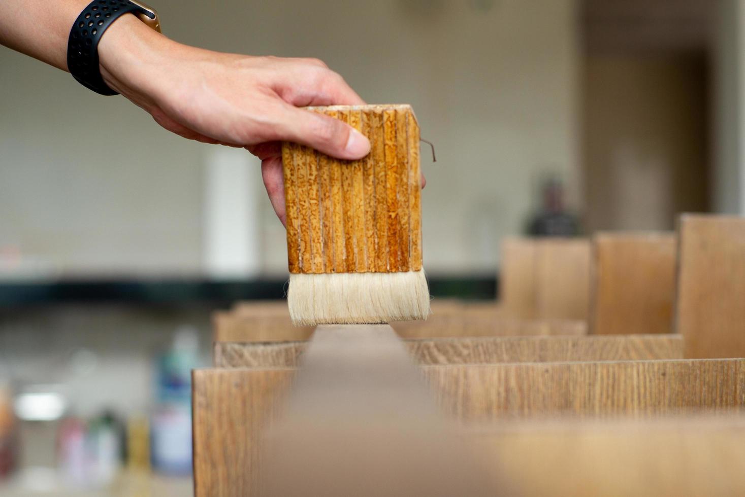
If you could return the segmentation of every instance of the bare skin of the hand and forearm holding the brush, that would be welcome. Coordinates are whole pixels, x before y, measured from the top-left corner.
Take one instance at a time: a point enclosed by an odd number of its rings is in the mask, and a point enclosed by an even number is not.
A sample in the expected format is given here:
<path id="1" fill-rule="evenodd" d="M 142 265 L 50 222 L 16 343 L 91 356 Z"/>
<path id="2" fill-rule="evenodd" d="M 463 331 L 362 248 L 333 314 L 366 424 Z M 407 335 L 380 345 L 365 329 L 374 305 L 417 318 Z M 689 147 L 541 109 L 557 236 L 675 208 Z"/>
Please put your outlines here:
<path id="1" fill-rule="evenodd" d="M 67 71 L 70 28 L 87 4 L 89 0 L 2 0 L 0 44 Z M 351 126 L 298 108 L 364 103 L 320 60 L 194 48 L 156 33 L 131 14 L 101 36 L 98 56 L 107 85 L 165 129 L 205 143 L 244 147 L 259 157 L 282 224 L 281 141 L 350 160 L 370 151 L 367 138 Z"/>

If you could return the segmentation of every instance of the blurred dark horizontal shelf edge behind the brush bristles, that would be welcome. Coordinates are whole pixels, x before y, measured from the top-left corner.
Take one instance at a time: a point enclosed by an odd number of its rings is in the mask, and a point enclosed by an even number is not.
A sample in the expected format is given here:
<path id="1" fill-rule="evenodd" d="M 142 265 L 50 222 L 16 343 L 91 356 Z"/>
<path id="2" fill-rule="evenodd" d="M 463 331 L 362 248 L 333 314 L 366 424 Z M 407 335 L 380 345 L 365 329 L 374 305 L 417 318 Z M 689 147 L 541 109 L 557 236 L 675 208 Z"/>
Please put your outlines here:
<path id="1" fill-rule="evenodd" d="M 438 298 L 493 299 L 494 277 L 428 277 Z M 286 280 L 59 280 L 0 282 L 0 307 L 39 304 L 232 304 L 241 300 L 285 298 Z"/>

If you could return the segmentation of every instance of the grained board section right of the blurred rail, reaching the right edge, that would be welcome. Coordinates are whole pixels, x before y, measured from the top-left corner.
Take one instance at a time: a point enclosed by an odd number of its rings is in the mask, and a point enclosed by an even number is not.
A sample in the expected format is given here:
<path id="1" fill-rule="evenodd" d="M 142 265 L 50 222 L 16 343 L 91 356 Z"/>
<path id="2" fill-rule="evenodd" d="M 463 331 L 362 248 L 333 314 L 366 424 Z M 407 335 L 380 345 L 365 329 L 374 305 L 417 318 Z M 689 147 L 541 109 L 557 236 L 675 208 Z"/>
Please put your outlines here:
<path id="1" fill-rule="evenodd" d="M 745 405 L 745 359 L 426 366 L 449 414 L 463 421 L 727 411 Z"/>

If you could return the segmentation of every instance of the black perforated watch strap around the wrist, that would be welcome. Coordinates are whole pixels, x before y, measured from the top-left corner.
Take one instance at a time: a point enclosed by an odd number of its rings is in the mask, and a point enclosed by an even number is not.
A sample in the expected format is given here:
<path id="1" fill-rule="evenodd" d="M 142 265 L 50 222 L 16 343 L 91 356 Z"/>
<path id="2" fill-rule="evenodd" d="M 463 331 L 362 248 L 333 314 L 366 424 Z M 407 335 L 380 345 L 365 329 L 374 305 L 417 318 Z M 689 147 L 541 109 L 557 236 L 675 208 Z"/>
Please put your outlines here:
<path id="1" fill-rule="evenodd" d="M 144 13 L 148 10 L 129 0 L 95 0 L 88 4 L 70 30 L 67 41 L 67 68 L 78 83 L 102 95 L 115 95 L 117 92 L 104 83 L 98 68 L 98 42 L 104 31 L 127 13 Z"/>

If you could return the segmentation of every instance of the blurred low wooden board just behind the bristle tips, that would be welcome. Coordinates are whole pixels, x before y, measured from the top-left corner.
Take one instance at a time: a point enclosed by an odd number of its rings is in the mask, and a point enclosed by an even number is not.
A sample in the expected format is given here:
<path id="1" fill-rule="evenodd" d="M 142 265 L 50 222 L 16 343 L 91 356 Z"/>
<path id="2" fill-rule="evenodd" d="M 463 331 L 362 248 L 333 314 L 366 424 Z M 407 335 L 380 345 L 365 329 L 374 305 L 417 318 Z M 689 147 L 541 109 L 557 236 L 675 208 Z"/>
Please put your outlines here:
<path id="1" fill-rule="evenodd" d="M 584 321 L 522 320 L 475 315 L 432 315 L 427 321 L 398 321 L 393 329 L 402 338 L 443 338 L 455 336 L 583 336 Z M 215 312 L 212 317 L 215 342 L 297 342 L 310 339 L 313 327 L 295 327 L 289 315 L 240 317 Z"/>

